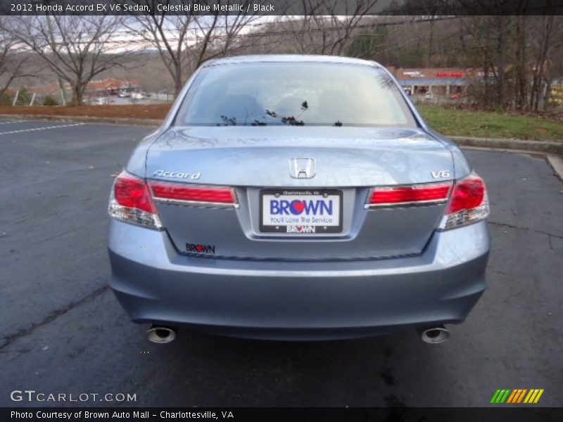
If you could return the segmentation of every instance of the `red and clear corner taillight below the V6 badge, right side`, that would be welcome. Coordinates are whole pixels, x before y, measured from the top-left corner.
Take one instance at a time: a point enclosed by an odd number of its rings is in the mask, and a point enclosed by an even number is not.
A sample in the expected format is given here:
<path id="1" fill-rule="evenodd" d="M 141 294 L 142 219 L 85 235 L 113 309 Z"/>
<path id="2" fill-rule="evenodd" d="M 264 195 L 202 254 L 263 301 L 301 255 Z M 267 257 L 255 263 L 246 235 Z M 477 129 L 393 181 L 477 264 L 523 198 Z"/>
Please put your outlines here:
<path id="1" fill-rule="evenodd" d="M 486 219 L 489 215 L 488 196 L 485 182 L 472 173 L 456 181 L 445 215 L 440 224 L 443 230 L 472 224 Z"/>

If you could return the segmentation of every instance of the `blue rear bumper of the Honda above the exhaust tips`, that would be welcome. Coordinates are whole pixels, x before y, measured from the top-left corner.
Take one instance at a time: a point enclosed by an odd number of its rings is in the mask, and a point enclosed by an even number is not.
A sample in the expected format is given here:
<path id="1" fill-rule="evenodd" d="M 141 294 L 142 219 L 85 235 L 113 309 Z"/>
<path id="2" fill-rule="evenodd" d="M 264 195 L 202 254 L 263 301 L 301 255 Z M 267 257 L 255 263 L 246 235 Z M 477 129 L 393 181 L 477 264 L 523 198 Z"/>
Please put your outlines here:
<path id="1" fill-rule="evenodd" d="M 354 338 L 459 323 L 486 288 L 486 222 L 436 232 L 417 257 L 340 262 L 179 255 L 165 232 L 113 220 L 110 286 L 138 323 L 247 338 Z"/>

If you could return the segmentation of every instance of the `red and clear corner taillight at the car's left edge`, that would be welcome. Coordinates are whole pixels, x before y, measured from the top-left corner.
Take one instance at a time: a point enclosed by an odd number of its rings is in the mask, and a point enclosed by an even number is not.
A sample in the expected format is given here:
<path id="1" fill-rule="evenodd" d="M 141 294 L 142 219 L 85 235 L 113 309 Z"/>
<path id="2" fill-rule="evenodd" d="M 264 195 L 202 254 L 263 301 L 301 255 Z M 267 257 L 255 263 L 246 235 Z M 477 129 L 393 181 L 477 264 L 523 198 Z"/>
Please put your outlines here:
<path id="1" fill-rule="evenodd" d="M 111 217 L 122 222 L 139 224 L 151 229 L 163 227 L 146 181 L 125 171 L 115 178 L 108 212 Z"/>

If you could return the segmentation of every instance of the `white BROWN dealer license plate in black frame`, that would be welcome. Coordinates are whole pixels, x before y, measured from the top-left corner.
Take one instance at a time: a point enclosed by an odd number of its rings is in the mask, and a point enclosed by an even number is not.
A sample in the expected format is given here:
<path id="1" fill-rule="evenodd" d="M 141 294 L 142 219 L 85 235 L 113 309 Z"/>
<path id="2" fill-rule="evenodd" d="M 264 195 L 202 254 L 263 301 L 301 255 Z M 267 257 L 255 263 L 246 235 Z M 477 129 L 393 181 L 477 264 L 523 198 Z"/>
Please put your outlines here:
<path id="1" fill-rule="evenodd" d="M 293 234 L 340 233 L 342 191 L 264 189 L 260 191 L 260 231 Z"/>

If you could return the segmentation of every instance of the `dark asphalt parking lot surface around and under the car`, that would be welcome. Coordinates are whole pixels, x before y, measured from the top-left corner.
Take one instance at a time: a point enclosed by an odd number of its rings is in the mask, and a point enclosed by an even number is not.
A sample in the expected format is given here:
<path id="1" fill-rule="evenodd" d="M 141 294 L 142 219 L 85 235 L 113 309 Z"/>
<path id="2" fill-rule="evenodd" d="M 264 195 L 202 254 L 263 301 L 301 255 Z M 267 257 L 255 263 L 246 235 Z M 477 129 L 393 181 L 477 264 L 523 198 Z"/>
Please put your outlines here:
<path id="1" fill-rule="evenodd" d="M 106 252 L 112 175 L 150 131 L 0 121 L 0 406 L 63 404 L 10 399 L 36 390 L 136 394 L 128 406 L 480 407 L 498 388 L 563 406 L 563 183 L 543 158 L 467 151 L 491 198 L 489 288 L 446 343 L 181 330 L 153 345 L 108 290 Z"/>

